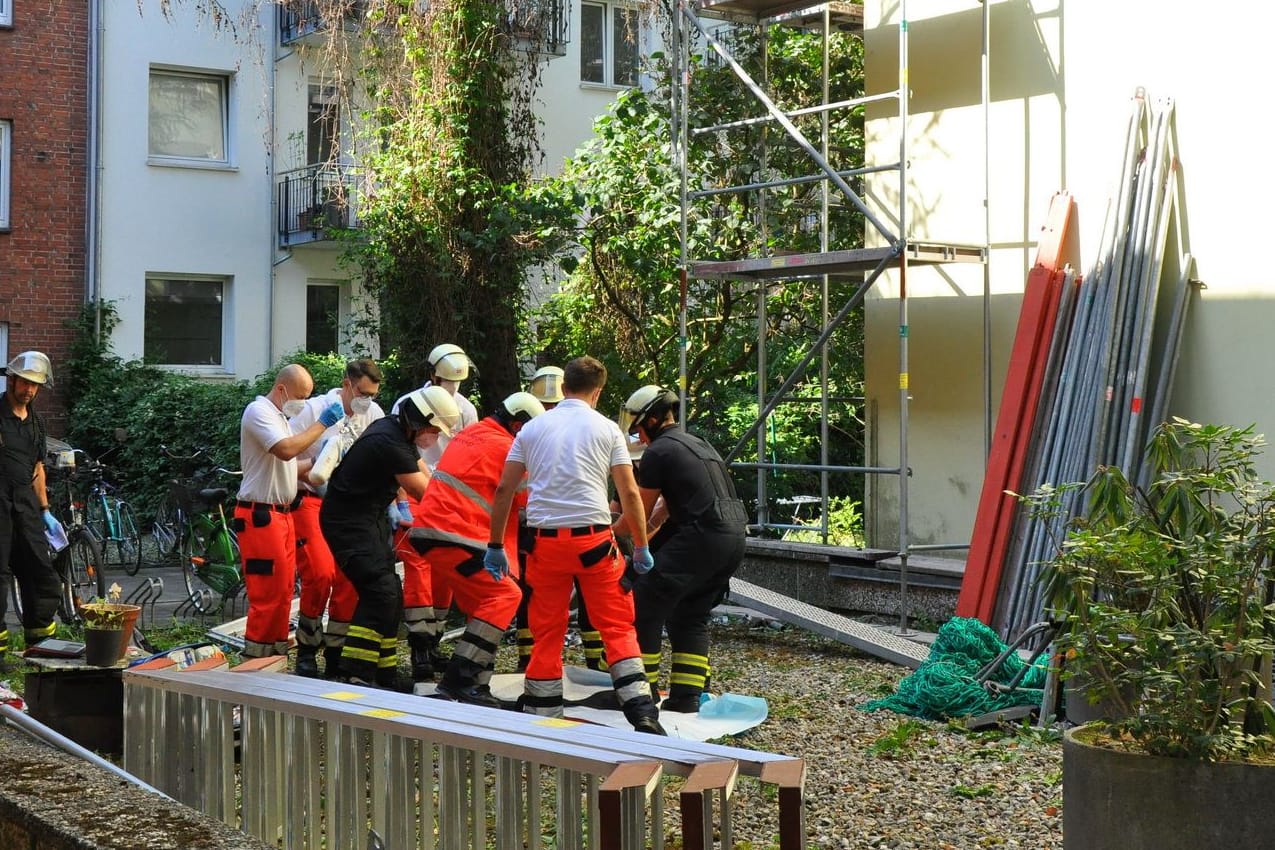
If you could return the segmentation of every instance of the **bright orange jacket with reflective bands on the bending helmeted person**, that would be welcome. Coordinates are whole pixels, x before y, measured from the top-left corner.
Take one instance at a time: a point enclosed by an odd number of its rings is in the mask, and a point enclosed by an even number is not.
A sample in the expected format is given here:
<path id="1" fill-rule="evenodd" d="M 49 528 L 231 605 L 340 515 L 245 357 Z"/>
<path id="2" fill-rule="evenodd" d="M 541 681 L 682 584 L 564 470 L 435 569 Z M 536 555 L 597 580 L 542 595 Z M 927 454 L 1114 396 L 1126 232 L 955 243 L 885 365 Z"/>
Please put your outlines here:
<path id="1" fill-rule="evenodd" d="M 448 443 L 430 486 L 416 511 L 412 529 L 418 548 L 458 545 L 486 551 L 491 534 L 491 505 L 496 486 L 505 472 L 505 456 L 514 435 L 495 417 L 487 417 L 459 431 Z M 505 549 L 518 552 L 518 508 L 527 503 L 525 491 L 514 497 L 505 526 Z"/>

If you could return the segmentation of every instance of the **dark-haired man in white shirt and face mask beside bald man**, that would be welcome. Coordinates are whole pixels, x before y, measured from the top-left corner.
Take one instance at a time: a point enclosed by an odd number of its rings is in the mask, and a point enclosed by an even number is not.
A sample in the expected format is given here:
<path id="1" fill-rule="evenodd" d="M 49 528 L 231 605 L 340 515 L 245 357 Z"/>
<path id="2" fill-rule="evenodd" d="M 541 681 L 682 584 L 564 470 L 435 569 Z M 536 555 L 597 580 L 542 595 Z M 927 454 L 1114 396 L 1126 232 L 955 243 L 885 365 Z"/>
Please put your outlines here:
<path id="1" fill-rule="evenodd" d="M 342 451 L 363 433 L 363 428 L 385 415 L 375 401 L 380 386 L 381 370 L 376 361 L 370 357 L 349 361 L 340 386 L 310 399 L 305 409 L 291 419 L 293 432 L 298 432 L 314 424 L 333 403 L 340 404 L 344 413 L 340 422 L 324 431 L 320 440 L 297 455 L 301 503 L 292 512 L 292 522 L 297 530 L 297 575 L 301 576 L 297 675 L 319 675 L 320 646 L 324 647 L 328 677 L 335 675 L 340 649 L 346 644 L 349 622 L 358 604 L 354 585 L 349 584 L 346 573 L 337 570 L 337 561 L 319 528 L 319 506 L 326 489 L 326 479 L 316 483 L 310 474 L 315 459 L 329 449 L 329 441 L 340 441 L 330 449 Z M 330 470 L 328 474 L 332 474 Z M 328 610 L 326 630 L 323 626 L 324 609 Z"/>

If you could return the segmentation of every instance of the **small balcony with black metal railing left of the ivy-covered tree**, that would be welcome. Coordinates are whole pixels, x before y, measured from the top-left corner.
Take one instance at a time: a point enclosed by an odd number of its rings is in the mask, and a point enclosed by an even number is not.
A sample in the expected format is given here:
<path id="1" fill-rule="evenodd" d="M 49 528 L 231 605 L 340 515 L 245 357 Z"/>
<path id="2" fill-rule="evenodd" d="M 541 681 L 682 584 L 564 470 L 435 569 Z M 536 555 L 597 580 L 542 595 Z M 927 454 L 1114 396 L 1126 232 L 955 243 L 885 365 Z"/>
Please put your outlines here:
<path id="1" fill-rule="evenodd" d="M 306 166 L 279 173 L 279 247 L 335 245 L 338 231 L 358 229 L 358 180 L 351 166 Z"/>

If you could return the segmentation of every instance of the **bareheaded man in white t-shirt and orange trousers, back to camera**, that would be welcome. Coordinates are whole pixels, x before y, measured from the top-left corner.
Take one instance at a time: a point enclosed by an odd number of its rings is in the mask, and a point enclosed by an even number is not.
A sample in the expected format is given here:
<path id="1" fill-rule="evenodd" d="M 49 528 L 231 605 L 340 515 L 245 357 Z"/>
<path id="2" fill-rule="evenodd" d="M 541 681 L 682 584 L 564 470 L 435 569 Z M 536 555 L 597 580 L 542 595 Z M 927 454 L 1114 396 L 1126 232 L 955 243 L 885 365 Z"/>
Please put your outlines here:
<path id="1" fill-rule="evenodd" d="M 562 716 L 562 640 L 571 590 L 579 585 L 593 627 L 602 635 L 625 717 L 638 731 L 662 735 L 634 630 L 632 596 L 620 587 L 625 565 L 611 534 L 608 477 L 625 512 L 634 517 L 634 568 L 646 572 L 654 559 L 627 441 L 615 422 L 594 410 L 606 384 L 606 366 L 592 357 L 575 358 L 564 370 L 564 400 L 518 432 L 496 488 L 483 566 L 509 571 L 505 524 L 525 473 L 527 525 L 534 538 L 527 557 L 525 580 L 532 589 L 527 617 L 534 646 L 519 701 L 523 710 Z"/>

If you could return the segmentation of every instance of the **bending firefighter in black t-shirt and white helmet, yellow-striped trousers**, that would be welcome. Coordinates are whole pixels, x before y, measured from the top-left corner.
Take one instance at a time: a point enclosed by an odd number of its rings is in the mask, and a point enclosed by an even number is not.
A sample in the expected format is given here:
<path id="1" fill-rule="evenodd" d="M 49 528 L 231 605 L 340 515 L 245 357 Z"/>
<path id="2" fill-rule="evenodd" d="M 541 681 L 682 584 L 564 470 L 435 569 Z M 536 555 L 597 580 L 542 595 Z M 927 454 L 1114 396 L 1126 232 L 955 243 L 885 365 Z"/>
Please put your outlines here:
<path id="1" fill-rule="evenodd" d="M 394 572 L 386 508 L 402 488 L 413 501 L 430 482 L 417 450 L 460 426 L 451 393 L 430 386 L 399 400 L 398 413 L 367 426 L 328 483 L 319 528 L 339 568 L 358 591 L 346 635 L 339 677 L 394 687 L 403 585 Z"/>

